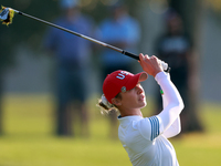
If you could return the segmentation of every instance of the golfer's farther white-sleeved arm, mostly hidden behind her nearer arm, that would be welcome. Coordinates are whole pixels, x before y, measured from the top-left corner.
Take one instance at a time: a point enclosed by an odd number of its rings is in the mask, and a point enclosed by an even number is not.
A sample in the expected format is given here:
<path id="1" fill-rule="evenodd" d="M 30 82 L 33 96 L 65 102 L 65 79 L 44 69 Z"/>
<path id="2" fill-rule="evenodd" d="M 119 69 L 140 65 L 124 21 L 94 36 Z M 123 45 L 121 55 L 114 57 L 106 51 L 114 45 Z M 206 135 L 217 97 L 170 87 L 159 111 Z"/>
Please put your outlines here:
<path id="1" fill-rule="evenodd" d="M 162 94 L 162 105 L 164 105 L 164 108 L 167 107 L 168 105 L 168 100 L 165 94 Z M 175 120 L 171 126 L 169 126 L 168 129 L 164 131 L 164 135 L 167 138 L 169 138 L 169 137 L 178 135 L 180 131 L 181 131 L 180 116 L 178 115 L 178 117 Z"/>

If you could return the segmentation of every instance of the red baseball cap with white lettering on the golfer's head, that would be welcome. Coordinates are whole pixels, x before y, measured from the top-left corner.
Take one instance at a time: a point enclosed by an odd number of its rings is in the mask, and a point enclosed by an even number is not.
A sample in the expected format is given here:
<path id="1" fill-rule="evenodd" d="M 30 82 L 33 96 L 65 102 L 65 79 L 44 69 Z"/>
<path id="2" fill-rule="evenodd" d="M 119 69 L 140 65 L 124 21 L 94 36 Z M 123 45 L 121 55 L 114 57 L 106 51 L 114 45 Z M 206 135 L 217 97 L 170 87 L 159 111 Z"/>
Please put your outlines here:
<path id="1" fill-rule="evenodd" d="M 115 71 L 106 76 L 103 83 L 103 92 L 109 103 L 119 92 L 126 92 L 134 89 L 138 82 L 147 80 L 148 74 L 141 72 L 133 74 L 127 71 Z"/>

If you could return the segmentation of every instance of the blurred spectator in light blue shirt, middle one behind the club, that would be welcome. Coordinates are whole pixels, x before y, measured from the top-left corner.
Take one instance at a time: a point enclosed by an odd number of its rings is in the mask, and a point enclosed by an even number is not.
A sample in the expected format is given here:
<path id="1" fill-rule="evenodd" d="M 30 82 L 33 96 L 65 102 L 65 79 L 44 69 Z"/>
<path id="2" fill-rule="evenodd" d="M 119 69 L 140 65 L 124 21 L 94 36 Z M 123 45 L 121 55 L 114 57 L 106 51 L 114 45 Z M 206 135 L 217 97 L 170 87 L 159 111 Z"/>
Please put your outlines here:
<path id="1" fill-rule="evenodd" d="M 137 44 L 140 39 L 140 28 L 134 18 L 131 18 L 124 3 L 117 2 L 108 8 L 109 17 L 102 21 L 97 30 L 97 39 L 101 41 L 120 48 L 129 52 L 137 52 Z M 103 80 L 107 74 L 116 70 L 133 72 L 135 61 L 131 58 L 120 54 L 110 49 L 103 48 L 101 54 Z M 110 136 L 117 137 L 117 114 L 110 113 Z"/>

